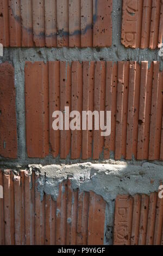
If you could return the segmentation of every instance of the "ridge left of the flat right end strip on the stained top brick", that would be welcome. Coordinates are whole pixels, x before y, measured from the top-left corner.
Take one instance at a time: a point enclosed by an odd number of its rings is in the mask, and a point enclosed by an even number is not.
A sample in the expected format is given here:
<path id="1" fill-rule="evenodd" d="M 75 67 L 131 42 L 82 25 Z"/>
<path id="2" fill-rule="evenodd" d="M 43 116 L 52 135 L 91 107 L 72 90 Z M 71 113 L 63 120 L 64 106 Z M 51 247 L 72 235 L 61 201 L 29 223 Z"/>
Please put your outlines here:
<path id="1" fill-rule="evenodd" d="M 93 1 L 81 0 L 81 47 L 92 47 Z"/>

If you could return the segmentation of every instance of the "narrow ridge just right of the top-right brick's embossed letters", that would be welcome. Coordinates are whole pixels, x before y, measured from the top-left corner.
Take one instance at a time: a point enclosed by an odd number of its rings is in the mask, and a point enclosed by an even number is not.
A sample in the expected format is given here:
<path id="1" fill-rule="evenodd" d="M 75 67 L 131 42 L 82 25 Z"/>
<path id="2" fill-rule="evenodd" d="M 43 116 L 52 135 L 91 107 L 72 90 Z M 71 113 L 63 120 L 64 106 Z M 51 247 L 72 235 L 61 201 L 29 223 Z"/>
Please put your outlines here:
<path id="1" fill-rule="evenodd" d="M 142 29 L 141 29 L 141 48 L 149 46 L 149 34 L 151 26 L 152 0 L 143 0 Z"/>

